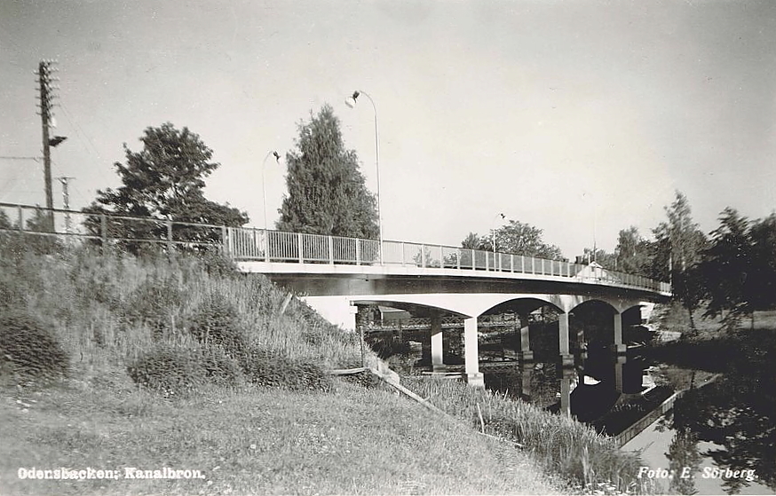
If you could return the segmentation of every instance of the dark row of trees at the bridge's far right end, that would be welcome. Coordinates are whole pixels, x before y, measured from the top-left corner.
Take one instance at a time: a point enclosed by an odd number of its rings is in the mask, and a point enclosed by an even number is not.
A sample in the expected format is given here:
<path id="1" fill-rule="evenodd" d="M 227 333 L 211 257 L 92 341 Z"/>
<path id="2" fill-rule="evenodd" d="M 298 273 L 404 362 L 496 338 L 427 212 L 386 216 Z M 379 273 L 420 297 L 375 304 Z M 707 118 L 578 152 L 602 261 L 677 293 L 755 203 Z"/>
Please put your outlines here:
<path id="1" fill-rule="evenodd" d="M 595 260 L 608 269 L 670 281 L 693 327 L 693 312 L 701 306 L 704 317 L 729 320 L 776 308 L 776 213 L 752 220 L 728 207 L 707 235 L 677 192 L 666 214 L 652 230 L 653 240 L 636 227 L 624 229 L 614 254 L 598 250 Z"/>

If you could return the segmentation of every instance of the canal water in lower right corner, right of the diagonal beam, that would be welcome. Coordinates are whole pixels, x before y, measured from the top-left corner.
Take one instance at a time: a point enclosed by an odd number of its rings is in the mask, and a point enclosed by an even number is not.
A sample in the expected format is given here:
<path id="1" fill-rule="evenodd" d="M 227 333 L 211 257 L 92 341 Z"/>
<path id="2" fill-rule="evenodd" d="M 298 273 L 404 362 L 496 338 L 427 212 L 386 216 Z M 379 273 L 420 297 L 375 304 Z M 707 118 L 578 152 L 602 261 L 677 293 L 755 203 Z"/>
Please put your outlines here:
<path id="1" fill-rule="evenodd" d="M 653 470 L 645 476 L 654 476 L 662 492 L 776 493 L 776 350 L 769 340 L 751 344 L 722 364 L 712 361 L 705 368 L 721 369 L 715 381 L 686 390 L 664 417 L 622 446 L 641 451 Z M 703 374 L 665 370 L 669 379 L 684 380 L 681 387 L 688 375 L 692 382 Z"/>

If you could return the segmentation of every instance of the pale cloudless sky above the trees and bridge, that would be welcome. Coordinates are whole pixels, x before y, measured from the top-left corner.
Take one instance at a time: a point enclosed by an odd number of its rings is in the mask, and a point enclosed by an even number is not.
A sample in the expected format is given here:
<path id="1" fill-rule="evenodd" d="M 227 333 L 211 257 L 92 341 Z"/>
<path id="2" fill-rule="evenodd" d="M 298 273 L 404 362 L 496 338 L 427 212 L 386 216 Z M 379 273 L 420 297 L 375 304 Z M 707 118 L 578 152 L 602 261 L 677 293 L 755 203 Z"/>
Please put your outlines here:
<path id="1" fill-rule="evenodd" d="M 503 214 L 573 260 L 649 238 L 677 190 L 704 232 L 776 210 L 774 54 L 767 0 L 4 0 L 0 157 L 42 155 L 33 73 L 57 59 L 71 209 L 172 122 L 221 164 L 206 196 L 272 226 L 264 159 L 328 103 L 373 193 L 379 165 L 384 239 L 458 246 Z M 0 201 L 44 205 L 42 163 L 0 158 Z"/>

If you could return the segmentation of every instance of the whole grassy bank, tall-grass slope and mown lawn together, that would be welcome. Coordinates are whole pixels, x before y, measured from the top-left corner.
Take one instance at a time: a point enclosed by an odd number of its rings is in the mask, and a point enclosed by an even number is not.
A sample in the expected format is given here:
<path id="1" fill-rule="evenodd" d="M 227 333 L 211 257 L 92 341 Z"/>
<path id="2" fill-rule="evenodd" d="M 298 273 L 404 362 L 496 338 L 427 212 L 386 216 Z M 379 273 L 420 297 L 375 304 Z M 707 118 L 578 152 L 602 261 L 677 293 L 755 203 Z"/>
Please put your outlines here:
<path id="1" fill-rule="evenodd" d="M 360 365 L 357 336 L 287 296 L 212 256 L 0 250 L 0 493 L 536 494 L 562 487 L 527 453 L 460 421 L 383 387 L 329 378 L 331 368 Z M 49 335 L 57 346 L 41 348 L 30 335 Z M 54 366 L 59 351 L 64 375 Z M 117 470 L 118 477 L 19 477 L 19 468 L 60 467 Z M 200 470 L 202 478 L 128 479 L 125 472 L 164 467 Z"/>

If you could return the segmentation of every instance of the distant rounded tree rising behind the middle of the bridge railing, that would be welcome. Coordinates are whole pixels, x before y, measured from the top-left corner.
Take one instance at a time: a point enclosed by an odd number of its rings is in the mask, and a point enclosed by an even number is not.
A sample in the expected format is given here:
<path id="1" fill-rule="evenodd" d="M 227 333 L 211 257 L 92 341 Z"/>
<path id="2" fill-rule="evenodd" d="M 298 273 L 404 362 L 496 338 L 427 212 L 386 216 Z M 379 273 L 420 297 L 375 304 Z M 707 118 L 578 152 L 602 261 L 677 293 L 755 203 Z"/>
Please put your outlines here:
<path id="1" fill-rule="evenodd" d="M 496 251 L 502 253 L 511 253 L 514 255 L 535 256 L 537 258 L 547 258 L 550 260 L 564 260 L 563 253 L 555 245 L 550 245 L 542 240 L 543 230 L 534 227 L 531 224 L 522 223 L 517 220 L 511 220 L 507 224 L 495 230 Z M 493 236 L 477 237 L 470 233 L 462 242 L 463 248 L 471 245 L 474 241 L 479 241 L 477 248 L 493 251 Z"/>

